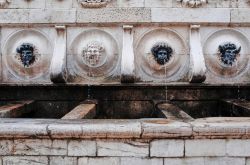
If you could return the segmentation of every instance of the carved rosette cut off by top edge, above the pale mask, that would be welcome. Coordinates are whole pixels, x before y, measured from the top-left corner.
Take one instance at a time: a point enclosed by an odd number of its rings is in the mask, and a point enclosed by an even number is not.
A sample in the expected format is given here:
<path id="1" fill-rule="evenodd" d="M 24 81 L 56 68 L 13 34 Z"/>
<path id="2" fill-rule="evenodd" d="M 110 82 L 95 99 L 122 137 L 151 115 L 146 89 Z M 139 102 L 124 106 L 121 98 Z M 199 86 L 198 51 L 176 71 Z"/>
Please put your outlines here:
<path id="1" fill-rule="evenodd" d="M 110 0 L 78 0 L 78 3 L 86 8 L 100 8 L 107 6 L 109 1 Z"/>

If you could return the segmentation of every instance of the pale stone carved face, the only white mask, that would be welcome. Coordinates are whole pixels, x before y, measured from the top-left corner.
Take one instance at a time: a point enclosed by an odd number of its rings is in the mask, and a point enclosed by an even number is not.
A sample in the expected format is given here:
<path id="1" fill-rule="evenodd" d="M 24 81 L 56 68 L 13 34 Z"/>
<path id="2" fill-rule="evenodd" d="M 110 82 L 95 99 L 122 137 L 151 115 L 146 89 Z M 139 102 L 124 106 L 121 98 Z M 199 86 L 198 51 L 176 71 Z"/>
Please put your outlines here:
<path id="1" fill-rule="evenodd" d="M 101 43 L 94 41 L 87 45 L 83 50 L 83 58 L 87 65 L 98 66 L 101 56 L 103 55 L 104 47 Z"/>

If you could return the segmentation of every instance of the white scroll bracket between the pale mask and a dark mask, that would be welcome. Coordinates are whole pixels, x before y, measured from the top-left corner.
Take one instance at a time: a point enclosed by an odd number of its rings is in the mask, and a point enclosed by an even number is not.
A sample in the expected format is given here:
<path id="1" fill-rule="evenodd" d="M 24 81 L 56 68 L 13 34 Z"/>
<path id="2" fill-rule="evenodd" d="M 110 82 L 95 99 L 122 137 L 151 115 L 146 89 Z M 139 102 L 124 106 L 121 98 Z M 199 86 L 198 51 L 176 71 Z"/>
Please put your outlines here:
<path id="1" fill-rule="evenodd" d="M 133 49 L 133 26 L 123 26 L 123 49 L 121 61 L 121 82 L 135 81 L 135 60 Z"/>

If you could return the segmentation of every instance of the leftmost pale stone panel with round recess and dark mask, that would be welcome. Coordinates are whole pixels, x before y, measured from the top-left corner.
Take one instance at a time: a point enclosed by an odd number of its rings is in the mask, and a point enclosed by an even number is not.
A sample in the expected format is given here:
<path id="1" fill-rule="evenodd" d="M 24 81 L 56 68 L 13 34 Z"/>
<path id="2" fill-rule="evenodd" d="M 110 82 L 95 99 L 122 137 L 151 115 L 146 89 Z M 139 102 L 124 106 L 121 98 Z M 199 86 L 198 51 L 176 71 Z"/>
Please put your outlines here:
<path id="1" fill-rule="evenodd" d="M 53 46 L 47 34 L 36 29 L 5 30 L 4 82 L 46 82 Z"/>

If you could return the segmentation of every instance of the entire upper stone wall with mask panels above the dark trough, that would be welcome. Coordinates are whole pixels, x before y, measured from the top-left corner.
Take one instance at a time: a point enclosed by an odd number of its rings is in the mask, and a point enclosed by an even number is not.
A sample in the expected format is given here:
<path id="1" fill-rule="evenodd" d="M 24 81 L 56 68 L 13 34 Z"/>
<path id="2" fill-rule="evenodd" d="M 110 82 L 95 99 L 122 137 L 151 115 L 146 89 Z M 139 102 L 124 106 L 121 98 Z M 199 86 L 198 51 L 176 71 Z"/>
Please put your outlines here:
<path id="1" fill-rule="evenodd" d="M 0 6 L 2 83 L 250 81 L 247 0 L 2 0 Z M 16 52 L 24 43 L 34 49 L 26 62 Z M 219 52 L 226 43 L 237 50 L 230 59 Z M 171 50 L 166 59 L 152 53 L 157 44 Z"/>

